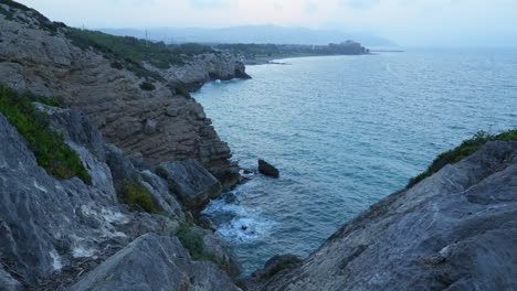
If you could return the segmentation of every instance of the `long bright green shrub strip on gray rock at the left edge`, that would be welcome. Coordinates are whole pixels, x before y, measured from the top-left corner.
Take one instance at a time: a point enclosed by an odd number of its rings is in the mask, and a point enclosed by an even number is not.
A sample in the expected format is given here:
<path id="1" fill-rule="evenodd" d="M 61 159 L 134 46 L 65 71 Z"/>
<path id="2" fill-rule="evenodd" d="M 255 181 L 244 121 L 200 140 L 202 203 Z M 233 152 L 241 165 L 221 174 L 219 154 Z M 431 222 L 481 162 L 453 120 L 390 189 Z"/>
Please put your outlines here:
<path id="1" fill-rule="evenodd" d="M 92 179 L 77 153 L 63 142 L 63 136 L 52 130 L 49 117 L 38 111 L 27 95 L 0 86 L 0 111 L 25 138 L 38 164 L 61 179 L 77 176 L 86 184 Z"/>

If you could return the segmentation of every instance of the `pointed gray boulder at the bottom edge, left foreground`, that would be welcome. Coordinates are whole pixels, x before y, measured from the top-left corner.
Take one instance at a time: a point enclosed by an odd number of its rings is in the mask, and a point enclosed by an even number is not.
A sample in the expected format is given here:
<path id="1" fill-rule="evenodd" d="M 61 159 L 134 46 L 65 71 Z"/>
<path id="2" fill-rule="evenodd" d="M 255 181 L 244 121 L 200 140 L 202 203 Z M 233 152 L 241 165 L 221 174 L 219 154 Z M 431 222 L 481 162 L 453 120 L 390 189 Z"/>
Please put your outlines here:
<path id="1" fill-rule="evenodd" d="M 70 290 L 239 289 L 215 263 L 192 261 L 176 237 L 145 235 L 84 276 Z"/>

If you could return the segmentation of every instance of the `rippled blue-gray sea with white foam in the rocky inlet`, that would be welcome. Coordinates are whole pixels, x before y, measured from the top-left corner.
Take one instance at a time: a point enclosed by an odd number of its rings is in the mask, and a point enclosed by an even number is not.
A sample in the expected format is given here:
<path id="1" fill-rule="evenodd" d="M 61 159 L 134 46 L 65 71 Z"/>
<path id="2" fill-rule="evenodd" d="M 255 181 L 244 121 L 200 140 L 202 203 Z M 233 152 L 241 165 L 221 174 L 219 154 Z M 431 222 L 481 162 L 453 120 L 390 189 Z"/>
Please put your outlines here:
<path id="1" fill-rule="evenodd" d="M 436 154 L 517 127 L 517 50 L 408 50 L 282 60 L 193 96 L 242 168 L 260 174 L 204 211 L 245 273 L 308 256 Z"/>

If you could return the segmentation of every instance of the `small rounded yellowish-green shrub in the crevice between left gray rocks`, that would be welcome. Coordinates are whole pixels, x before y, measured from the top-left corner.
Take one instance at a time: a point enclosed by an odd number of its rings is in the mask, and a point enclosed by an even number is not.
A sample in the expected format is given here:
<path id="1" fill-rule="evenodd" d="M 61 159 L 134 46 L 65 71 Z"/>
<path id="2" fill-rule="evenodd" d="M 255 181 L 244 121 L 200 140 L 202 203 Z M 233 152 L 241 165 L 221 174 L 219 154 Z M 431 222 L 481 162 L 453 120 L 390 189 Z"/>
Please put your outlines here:
<path id="1" fill-rule="evenodd" d="M 126 180 L 118 196 L 123 203 L 129 206 L 139 206 L 148 213 L 157 213 L 155 201 L 149 190 L 137 177 Z"/>

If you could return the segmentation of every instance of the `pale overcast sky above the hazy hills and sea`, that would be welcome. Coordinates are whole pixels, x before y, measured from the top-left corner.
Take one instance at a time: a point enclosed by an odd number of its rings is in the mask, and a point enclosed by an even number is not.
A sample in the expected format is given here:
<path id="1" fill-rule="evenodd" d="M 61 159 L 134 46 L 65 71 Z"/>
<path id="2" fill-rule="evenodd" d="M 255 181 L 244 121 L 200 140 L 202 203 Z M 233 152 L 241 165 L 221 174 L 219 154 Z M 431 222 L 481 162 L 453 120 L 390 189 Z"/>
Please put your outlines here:
<path id="1" fill-rule="evenodd" d="M 21 0 L 87 28 L 297 25 L 401 45 L 517 46 L 517 0 Z"/>

